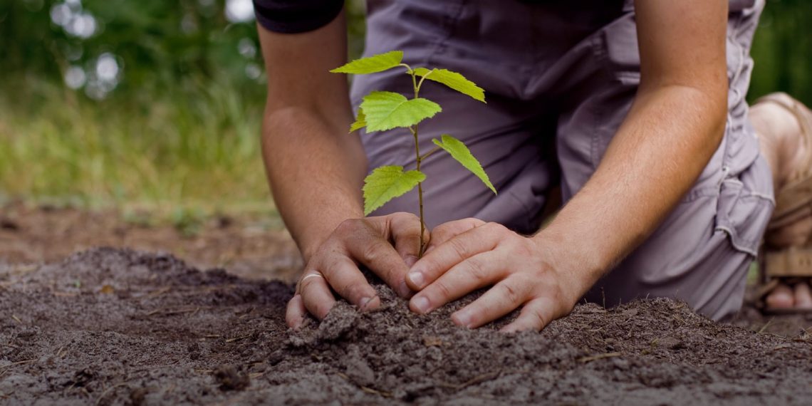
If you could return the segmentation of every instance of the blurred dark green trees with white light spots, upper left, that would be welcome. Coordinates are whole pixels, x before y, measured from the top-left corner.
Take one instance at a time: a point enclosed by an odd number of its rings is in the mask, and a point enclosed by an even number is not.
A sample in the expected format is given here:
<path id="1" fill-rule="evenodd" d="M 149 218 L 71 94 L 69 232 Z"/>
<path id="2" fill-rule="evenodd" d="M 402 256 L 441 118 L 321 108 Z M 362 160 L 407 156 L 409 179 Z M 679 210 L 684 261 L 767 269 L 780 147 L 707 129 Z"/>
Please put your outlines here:
<path id="1" fill-rule="evenodd" d="M 6 0 L 0 71 L 6 80 L 64 80 L 93 98 L 113 89 L 174 92 L 218 75 L 261 93 L 252 15 L 227 18 L 228 6 L 240 2 L 250 6 L 250 0 Z"/>

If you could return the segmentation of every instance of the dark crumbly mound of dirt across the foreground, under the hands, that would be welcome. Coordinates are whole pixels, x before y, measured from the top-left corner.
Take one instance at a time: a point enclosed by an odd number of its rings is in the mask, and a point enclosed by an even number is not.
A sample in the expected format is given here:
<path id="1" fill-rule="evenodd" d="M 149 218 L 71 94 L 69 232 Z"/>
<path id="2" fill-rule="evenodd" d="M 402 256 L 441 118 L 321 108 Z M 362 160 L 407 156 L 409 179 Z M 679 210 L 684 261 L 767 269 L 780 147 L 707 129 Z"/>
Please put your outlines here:
<path id="1" fill-rule="evenodd" d="M 579 305 L 541 334 L 465 330 L 379 287 L 284 325 L 292 287 L 97 248 L 0 272 L 8 404 L 810 404 L 812 337 L 720 325 L 672 300 Z"/>

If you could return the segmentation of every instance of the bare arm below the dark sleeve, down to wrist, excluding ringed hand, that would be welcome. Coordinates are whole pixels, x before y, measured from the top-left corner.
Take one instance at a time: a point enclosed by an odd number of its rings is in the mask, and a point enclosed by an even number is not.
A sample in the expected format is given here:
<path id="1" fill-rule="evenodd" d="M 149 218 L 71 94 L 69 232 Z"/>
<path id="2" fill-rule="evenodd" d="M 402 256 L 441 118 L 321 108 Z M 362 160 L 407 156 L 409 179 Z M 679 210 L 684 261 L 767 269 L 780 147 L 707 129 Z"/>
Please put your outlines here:
<path id="1" fill-rule="evenodd" d="M 305 261 L 335 227 L 364 216 L 366 156 L 353 121 L 343 12 L 325 27 L 279 34 L 257 25 L 268 76 L 262 154 L 274 201 Z"/>

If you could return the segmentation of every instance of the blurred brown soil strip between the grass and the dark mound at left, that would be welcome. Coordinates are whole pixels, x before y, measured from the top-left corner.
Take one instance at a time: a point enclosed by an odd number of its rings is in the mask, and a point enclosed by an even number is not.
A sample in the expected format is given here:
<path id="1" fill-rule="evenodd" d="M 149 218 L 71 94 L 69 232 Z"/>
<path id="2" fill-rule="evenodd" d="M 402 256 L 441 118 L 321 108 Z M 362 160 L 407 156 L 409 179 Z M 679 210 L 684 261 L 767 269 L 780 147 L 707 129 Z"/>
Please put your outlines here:
<path id="1" fill-rule="evenodd" d="M 192 266 L 225 267 L 249 278 L 293 282 L 302 264 L 279 218 L 257 215 L 119 214 L 14 203 L 0 207 L 0 265 L 62 261 L 97 246 L 172 253 Z"/>

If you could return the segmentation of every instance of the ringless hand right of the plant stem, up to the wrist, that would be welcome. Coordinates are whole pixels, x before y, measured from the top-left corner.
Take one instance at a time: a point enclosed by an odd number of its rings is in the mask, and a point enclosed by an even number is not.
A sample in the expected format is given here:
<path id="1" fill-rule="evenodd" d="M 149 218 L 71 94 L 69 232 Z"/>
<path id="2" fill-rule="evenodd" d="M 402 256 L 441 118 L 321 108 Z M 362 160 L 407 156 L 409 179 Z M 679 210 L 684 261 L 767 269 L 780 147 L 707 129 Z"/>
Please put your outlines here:
<path id="1" fill-rule="evenodd" d="M 409 308 L 429 313 L 493 285 L 479 299 L 453 313 L 451 320 L 476 328 L 524 306 L 519 317 L 502 330 L 541 330 L 571 312 L 585 288 L 581 287 L 584 281 L 555 266 L 554 244 L 540 237 L 518 235 L 499 223 L 476 218 L 435 227 L 424 257 L 406 277 L 409 287 L 419 291 L 409 301 Z"/>

